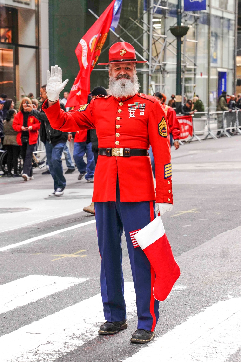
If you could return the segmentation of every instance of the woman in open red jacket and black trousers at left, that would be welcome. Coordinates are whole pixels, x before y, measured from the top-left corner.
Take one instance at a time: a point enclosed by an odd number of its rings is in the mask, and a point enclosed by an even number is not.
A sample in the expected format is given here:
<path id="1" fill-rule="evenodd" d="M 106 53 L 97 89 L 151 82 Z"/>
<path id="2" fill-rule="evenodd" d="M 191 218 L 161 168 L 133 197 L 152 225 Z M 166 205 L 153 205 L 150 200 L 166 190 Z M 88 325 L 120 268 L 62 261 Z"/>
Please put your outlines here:
<path id="1" fill-rule="evenodd" d="M 17 143 L 21 146 L 21 155 L 23 158 L 22 177 L 25 181 L 33 180 L 32 153 L 38 140 L 38 130 L 40 122 L 27 111 L 27 104 L 32 104 L 30 98 L 22 99 L 18 113 L 13 120 L 13 129 L 17 131 Z"/>

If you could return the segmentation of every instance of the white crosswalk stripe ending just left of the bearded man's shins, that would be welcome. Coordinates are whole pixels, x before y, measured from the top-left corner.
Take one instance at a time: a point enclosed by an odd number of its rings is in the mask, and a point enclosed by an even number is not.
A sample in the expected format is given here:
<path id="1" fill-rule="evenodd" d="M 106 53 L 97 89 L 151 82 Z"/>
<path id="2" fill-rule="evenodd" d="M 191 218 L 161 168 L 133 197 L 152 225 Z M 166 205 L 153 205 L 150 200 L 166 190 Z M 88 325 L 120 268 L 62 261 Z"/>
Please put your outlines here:
<path id="1" fill-rule="evenodd" d="M 28 275 L 0 285 L 0 313 L 24 306 L 89 279 Z"/>

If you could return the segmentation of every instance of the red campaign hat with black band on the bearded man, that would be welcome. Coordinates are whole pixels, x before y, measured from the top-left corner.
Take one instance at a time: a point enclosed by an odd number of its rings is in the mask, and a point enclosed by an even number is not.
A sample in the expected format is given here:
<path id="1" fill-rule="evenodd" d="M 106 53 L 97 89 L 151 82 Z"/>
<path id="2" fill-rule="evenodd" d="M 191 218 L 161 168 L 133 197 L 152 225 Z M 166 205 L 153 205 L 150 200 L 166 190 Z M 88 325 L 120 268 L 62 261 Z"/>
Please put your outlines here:
<path id="1" fill-rule="evenodd" d="M 98 66 L 105 66 L 112 63 L 147 63 L 147 60 L 137 60 L 135 58 L 134 47 L 126 42 L 118 42 L 109 48 L 109 62 L 98 63 Z"/>

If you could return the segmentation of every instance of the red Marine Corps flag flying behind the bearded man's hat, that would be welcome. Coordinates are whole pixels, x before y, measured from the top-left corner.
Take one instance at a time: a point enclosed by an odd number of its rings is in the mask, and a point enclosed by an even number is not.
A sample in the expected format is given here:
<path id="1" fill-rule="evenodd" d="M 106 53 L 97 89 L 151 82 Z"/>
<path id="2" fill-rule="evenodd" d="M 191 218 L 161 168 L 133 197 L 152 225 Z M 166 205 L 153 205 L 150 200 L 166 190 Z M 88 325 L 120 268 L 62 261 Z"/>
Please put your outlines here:
<path id="1" fill-rule="evenodd" d="M 113 0 L 80 39 L 75 50 L 80 70 L 70 90 L 66 107 L 86 104 L 90 93 L 90 73 L 100 56 L 109 28 L 116 28 L 118 25 L 121 7 L 122 0 Z"/>

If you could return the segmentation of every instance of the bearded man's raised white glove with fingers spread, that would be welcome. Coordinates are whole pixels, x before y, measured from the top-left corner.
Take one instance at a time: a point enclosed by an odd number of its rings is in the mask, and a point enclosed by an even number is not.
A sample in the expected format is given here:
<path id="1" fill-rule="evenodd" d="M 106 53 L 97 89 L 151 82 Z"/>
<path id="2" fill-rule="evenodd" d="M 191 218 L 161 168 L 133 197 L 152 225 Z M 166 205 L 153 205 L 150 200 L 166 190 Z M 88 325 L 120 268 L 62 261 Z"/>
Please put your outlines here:
<path id="1" fill-rule="evenodd" d="M 51 67 L 51 71 L 47 70 L 47 83 L 46 83 L 46 94 L 48 100 L 57 101 L 59 99 L 59 94 L 64 89 L 65 85 L 68 83 L 66 79 L 62 83 L 62 69 L 58 66 Z"/>

